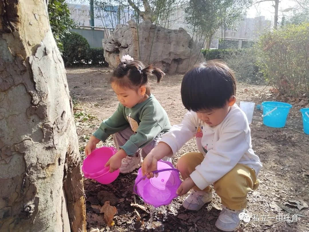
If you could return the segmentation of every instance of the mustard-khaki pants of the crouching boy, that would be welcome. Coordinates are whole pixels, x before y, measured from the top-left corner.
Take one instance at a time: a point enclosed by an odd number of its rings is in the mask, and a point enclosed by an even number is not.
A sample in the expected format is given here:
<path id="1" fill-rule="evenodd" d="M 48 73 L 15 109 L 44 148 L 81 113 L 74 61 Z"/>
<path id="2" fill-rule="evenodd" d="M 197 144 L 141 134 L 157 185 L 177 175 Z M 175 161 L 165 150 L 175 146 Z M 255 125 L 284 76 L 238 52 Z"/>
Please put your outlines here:
<path id="1" fill-rule="evenodd" d="M 180 170 L 181 177 L 185 180 L 195 170 L 195 167 L 203 161 L 204 156 L 200 152 L 184 153 L 176 164 Z M 213 183 L 214 190 L 221 198 L 222 204 L 230 209 L 243 209 L 247 207 L 247 194 L 256 190 L 259 186 L 259 180 L 256 180 L 255 171 L 247 165 L 237 164 L 231 171 L 226 173 L 222 178 Z M 201 190 L 197 186 L 194 190 Z M 203 191 L 212 191 L 207 186 Z"/>

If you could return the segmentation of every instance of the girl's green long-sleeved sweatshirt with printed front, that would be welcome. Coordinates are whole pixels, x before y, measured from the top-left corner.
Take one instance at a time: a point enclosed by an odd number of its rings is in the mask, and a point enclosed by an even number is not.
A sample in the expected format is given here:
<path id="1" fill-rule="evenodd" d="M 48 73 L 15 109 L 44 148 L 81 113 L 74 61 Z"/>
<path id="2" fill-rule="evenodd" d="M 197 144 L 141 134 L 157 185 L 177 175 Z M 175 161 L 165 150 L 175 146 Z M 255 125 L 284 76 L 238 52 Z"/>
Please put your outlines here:
<path id="1" fill-rule="evenodd" d="M 149 144 L 159 133 L 171 129 L 171 124 L 159 101 L 150 94 L 146 101 L 132 108 L 119 103 L 116 112 L 103 121 L 93 135 L 104 142 L 108 136 L 127 127 L 131 127 L 135 134 L 120 148 L 133 156 L 138 148 Z"/>

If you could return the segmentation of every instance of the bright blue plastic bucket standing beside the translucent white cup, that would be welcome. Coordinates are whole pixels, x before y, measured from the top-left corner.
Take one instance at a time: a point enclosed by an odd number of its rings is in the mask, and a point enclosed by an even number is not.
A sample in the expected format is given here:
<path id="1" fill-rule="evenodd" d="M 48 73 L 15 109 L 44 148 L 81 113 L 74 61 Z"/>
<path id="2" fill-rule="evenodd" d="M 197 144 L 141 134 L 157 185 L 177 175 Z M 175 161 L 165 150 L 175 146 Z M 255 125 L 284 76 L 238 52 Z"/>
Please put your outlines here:
<path id="1" fill-rule="evenodd" d="M 286 118 L 292 105 L 279 101 L 264 101 L 263 105 L 263 124 L 268 127 L 284 127 Z"/>

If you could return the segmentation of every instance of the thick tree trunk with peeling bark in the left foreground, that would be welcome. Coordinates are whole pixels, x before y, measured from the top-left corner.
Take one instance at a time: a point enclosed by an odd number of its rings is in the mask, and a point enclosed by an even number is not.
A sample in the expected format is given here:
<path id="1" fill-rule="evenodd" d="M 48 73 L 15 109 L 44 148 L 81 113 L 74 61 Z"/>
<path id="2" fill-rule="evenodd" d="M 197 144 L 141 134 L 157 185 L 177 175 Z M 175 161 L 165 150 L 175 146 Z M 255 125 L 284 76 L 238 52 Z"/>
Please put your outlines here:
<path id="1" fill-rule="evenodd" d="M 86 231 L 81 160 L 46 0 L 0 0 L 0 231 Z"/>

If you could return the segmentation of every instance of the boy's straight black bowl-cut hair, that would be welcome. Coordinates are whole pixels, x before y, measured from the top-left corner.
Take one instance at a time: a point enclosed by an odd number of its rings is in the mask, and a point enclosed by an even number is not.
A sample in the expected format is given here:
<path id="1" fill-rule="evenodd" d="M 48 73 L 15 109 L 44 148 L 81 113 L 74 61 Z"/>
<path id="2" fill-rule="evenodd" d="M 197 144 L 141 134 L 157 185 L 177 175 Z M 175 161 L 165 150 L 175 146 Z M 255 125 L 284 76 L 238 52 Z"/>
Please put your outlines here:
<path id="1" fill-rule="evenodd" d="M 233 95 L 236 95 L 234 73 L 219 60 L 193 67 L 182 79 L 181 99 L 187 110 L 222 108 Z"/>

